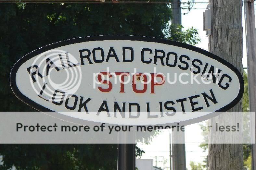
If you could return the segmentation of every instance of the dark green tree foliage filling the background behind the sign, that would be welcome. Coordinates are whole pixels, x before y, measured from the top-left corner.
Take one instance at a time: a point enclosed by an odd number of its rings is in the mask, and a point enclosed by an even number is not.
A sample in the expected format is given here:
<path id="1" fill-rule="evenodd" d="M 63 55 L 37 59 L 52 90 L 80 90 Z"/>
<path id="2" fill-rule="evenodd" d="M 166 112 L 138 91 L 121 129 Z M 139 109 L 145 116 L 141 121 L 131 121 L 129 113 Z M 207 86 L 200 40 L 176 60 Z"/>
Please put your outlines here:
<path id="1" fill-rule="evenodd" d="M 195 44 L 197 30 L 169 26 L 166 4 L 40 4 L 0 6 L 1 111 L 34 111 L 12 93 L 10 70 L 44 45 L 93 35 L 139 35 Z M 143 151 L 137 148 L 140 156 Z M 4 165 L 17 169 L 116 169 L 116 145 L 0 145 Z"/>

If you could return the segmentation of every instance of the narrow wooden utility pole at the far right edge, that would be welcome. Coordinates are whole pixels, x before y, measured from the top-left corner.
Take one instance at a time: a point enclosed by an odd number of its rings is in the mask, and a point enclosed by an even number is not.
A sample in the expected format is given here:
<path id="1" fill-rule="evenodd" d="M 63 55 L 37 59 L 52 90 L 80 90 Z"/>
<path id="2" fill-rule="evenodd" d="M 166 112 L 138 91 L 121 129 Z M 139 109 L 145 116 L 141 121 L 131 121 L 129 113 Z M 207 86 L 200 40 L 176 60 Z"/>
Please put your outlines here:
<path id="1" fill-rule="evenodd" d="M 254 15 L 254 0 L 244 2 L 246 19 L 246 46 L 247 46 L 247 67 L 248 67 L 248 94 L 250 112 L 256 112 L 256 30 Z M 255 115 L 251 116 L 255 119 Z M 251 128 L 255 128 L 251 127 Z M 256 145 L 252 144 L 251 169 L 256 170 Z"/>

